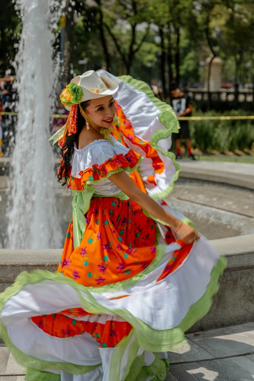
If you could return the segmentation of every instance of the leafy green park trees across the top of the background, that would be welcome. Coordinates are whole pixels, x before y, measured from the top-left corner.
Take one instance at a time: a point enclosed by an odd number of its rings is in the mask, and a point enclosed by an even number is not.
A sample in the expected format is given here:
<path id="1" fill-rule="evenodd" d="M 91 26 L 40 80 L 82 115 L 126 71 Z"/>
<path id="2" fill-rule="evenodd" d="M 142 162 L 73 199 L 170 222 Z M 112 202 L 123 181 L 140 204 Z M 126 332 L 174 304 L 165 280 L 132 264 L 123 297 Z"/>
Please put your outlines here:
<path id="1" fill-rule="evenodd" d="M 170 74 L 191 84 L 201 82 L 200 62 L 216 48 L 224 63 L 223 82 L 254 78 L 254 62 L 252 73 L 246 67 L 254 60 L 253 0 L 80 0 L 70 1 L 70 8 L 69 62 L 77 74 L 110 61 L 115 75 L 129 72 L 145 81 L 169 82 Z M 5 70 L 16 53 L 20 19 L 12 0 L 0 0 L 0 9 L 0 65 Z M 87 67 L 78 64 L 84 57 Z"/>

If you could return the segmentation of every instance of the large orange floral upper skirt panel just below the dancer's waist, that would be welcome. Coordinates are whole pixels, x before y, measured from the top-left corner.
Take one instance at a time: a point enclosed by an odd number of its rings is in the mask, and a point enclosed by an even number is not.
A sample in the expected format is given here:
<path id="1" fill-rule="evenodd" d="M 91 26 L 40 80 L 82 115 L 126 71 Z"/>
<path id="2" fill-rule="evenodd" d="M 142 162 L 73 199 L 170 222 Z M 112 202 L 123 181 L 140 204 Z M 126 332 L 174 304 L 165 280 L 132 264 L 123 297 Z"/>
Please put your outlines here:
<path id="1" fill-rule="evenodd" d="M 155 222 L 130 200 L 91 200 L 85 234 L 73 250 L 72 223 L 58 272 L 83 286 L 104 286 L 133 277 L 156 255 Z"/>

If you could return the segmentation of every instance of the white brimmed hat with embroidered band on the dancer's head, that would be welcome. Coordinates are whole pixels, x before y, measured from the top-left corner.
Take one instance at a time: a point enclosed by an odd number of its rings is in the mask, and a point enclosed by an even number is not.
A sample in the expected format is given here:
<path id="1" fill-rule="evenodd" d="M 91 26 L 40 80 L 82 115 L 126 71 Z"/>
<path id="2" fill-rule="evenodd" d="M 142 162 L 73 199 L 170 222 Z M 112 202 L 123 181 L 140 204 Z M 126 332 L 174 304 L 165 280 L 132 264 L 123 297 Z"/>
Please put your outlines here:
<path id="1" fill-rule="evenodd" d="M 119 87 L 117 82 L 113 79 L 108 78 L 103 74 L 95 73 L 93 70 L 76 76 L 71 80 L 71 83 L 73 82 L 79 85 L 83 92 L 80 102 L 112 95 Z M 65 108 L 71 110 L 71 107 L 65 106 Z"/>

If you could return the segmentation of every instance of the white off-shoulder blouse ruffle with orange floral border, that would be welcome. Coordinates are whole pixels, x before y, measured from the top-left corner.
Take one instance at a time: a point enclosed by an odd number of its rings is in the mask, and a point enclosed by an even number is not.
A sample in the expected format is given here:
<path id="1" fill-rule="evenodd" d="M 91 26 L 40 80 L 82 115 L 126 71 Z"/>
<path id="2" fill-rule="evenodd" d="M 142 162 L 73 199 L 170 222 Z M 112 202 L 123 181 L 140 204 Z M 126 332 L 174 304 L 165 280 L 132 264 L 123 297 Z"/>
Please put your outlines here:
<path id="1" fill-rule="evenodd" d="M 97 140 L 73 155 L 72 173 L 68 188 L 86 189 L 92 183 L 103 181 L 122 170 L 134 171 L 142 161 L 142 156 L 112 138 L 113 145 L 106 140 Z"/>

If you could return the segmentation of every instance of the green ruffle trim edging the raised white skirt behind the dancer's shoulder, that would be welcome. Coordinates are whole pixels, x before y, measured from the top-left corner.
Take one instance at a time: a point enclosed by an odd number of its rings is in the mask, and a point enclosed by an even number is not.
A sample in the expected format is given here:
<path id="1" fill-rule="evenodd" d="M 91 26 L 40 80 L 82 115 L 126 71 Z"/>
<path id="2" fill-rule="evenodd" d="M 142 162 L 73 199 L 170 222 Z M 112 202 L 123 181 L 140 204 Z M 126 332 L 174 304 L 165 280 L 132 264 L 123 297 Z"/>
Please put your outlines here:
<path id="1" fill-rule="evenodd" d="M 148 98 L 153 102 L 153 104 L 156 107 L 158 107 L 158 109 L 160 109 L 161 111 L 158 117 L 160 122 L 163 124 L 163 126 L 166 129 L 159 129 L 158 131 L 156 131 L 151 137 L 150 144 L 154 149 L 156 149 L 156 151 L 161 152 L 164 156 L 171 159 L 176 169 L 173 179 L 168 185 L 168 187 L 162 192 L 159 192 L 151 196 L 152 199 L 163 200 L 166 196 L 168 196 L 173 191 L 174 184 L 179 178 L 181 166 L 176 161 L 176 156 L 173 154 L 173 152 L 164 151 L 162 148 L 158 146 L 158 142 L 161 139 L 168 138 L 172 132 L 177 133 L 180 129 L 179 122 L 177 120 L 177 117 L 173 108 L 167 103 L 162 102 L 160 99 L 156 98 L 153 91 L 145 82 L 132 78 L 130 75 L 122 75 L 118 78 L 121 79 L 123 82 L 127 83 L 128 85 L 144 92 L 148 96 Z"/>

